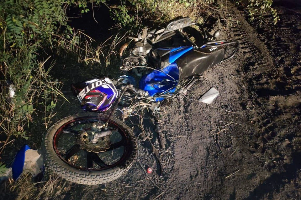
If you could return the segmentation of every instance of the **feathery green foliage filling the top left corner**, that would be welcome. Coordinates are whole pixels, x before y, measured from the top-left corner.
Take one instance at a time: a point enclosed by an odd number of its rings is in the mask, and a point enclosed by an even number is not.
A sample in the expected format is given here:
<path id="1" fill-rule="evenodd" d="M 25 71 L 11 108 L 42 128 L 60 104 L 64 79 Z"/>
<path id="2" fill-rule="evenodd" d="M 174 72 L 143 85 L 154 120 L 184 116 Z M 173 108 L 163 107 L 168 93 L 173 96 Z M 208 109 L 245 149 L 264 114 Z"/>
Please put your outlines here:
<path id="1" fill-rule="evenodd" d="M 5 1 L 0 5 L 1 29 L 10 47 L 50 38 L 67 17 L 62 0 Z"/>

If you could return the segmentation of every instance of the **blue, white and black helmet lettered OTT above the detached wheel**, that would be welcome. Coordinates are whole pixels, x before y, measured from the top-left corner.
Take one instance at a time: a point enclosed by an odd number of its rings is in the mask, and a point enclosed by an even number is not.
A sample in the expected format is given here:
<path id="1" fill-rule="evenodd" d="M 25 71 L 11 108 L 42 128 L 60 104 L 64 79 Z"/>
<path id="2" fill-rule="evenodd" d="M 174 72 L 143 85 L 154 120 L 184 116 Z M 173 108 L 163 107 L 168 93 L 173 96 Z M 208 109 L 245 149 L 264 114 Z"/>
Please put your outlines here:
<path id="1" fill-rule="evenodd" d="M 117 89 L 108 77 L 71 84 L 71 90 L 81 102 L 82 109 L 90 112 L 108 110 L 118 96 Z"/>

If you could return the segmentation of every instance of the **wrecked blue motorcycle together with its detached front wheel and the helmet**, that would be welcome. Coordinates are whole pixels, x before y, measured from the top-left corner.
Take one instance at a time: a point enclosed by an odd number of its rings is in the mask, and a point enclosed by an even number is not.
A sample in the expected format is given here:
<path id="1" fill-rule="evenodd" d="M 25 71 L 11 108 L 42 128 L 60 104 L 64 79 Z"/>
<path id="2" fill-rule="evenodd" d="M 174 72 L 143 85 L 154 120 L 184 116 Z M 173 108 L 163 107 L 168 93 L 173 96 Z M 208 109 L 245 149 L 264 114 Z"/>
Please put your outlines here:
<path id="1" fill-rule="evenodd" d="M 122 76 L 116 80 L 90 78 L 71 85 L 87 112 L 62 118 L 49 128 L 43 142 L 46 165 L 74 183 L 103 184 L 119 178 L 137 156 L 136 136 L 124 119 L 143 115 L 143 109 L 154 118 L 164 148 L 155 116 L 161 102 L 184 98 L 196 82 L 194 75 L 227 61 L 237 51 L 238 41 L 218 37 L 219 31 L 210 35 L 189 17 L 129 37 L 130 42 L 120 49 Z M 143 140 L 150 139 L 145 131 L 141 134 Z"/>

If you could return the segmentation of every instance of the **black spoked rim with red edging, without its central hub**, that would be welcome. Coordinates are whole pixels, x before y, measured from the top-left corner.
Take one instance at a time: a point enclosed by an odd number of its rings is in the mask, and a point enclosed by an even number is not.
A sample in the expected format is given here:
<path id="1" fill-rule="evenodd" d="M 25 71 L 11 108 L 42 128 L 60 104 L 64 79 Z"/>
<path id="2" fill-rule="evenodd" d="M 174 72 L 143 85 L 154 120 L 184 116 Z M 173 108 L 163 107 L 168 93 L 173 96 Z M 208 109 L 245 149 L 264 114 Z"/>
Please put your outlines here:
<path id="1" fill-rule="evenodd" d="M 89 131 L 89 126 L 99 121 L 106 122 L 106 119 L 92 116 L 80 117 L 58 128 L 53 137 L 53 148 L 57 156 L 69 166 L 84 171 L 102 171 L 126 162 L 131 156 L 131 140 L 126 130 L 114 121 L 108 122 L 108 128 L 114 131 L 109 138 L 110 144 L 105 150 L 93 152 L 91 149 L 85 149 L 78 142 L 81 132 Z"/>

